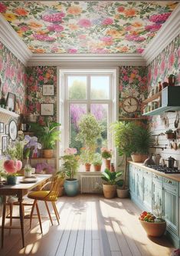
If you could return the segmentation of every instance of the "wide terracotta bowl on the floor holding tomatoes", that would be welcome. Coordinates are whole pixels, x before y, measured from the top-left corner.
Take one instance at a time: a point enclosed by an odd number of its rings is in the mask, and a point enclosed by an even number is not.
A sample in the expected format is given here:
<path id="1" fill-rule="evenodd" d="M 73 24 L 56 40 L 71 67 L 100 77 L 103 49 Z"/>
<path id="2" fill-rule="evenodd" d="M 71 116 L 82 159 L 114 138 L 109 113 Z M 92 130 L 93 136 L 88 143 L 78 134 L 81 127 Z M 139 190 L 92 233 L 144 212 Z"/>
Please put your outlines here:
<path id="1" fill-rule="evenodd" d="M 142 227 L 145 229 L 148 235 L 152 237 L 161 237 L 165 233 L 166 222 L 147 222 L 140 221 Z"/>

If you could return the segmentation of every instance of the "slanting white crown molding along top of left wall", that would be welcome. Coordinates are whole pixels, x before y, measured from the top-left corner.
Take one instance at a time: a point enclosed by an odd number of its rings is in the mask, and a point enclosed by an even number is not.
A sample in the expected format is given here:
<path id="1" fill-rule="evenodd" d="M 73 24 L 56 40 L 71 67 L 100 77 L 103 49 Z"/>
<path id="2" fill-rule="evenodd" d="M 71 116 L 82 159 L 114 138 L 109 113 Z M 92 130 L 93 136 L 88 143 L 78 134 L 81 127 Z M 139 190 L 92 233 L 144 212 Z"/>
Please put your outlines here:
<path id="1" fill-rule="evenodd" d="M 31 51 L 18 37 L 11 25 L 0 14 L 0 41 L 11 51 L 24 65 L 31 58 Z"/>

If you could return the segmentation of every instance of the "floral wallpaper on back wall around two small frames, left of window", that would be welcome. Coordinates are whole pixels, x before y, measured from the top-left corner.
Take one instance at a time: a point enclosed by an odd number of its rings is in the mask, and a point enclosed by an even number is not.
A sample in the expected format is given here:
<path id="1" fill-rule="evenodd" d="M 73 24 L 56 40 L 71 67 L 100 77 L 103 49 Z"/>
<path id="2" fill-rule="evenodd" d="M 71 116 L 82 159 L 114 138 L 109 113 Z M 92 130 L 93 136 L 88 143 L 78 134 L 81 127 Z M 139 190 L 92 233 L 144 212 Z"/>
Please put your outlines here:
<path id="1" fill-rule="evenodd" d="M 54 116 L 57 113 L 57 67 L 35 66 L 27 68 L 28 85 L 27 85 L 27 112 L 40 115 L 41 103 L 54 104 Z M 54 85 L 54 96 L 43 96 L 42 86 Z M 43 122 L 44 118 L 39 117 L 39 121 Z"/>

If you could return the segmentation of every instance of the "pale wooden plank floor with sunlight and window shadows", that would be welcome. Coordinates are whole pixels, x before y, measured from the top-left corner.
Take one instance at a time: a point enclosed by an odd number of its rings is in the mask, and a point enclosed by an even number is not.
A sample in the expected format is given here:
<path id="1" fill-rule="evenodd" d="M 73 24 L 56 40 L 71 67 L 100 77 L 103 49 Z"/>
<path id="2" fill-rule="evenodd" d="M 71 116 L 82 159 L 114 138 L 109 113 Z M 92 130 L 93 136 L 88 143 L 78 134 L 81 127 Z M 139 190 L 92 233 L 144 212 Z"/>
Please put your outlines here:
<path id="1" fill-rule="evenodd" d="M 43 234 L 34 218 L 25 220 L 25 248 L 20 230 L 5 231 L 1 256 L 169 256 L 172 244 L 165 237 L 150 239 L 139 224 L 139 208 L 129 199 L 107 200 L 99 195 L 62 197 L 57 202 L 61 224 L 43 218 Z M 46 214 L 41 204 L 41 214 Z M 18 220 L 15 220 L 18 223 Z M 7 222 L 8 224 L 8 222 Z"/>

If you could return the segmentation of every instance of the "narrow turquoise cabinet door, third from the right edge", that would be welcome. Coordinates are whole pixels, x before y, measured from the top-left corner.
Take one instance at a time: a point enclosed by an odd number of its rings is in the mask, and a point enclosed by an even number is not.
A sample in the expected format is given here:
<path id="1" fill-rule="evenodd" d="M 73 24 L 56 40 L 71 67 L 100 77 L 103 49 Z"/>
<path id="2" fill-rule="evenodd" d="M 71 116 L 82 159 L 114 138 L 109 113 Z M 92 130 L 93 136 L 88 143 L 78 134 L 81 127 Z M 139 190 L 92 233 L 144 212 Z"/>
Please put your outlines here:
<path id="1" fill-rule="evenodd" d="M 152 173 L 149 171 L 143 174 L 143 204 L 148 211 L 152 211 Z"/>

